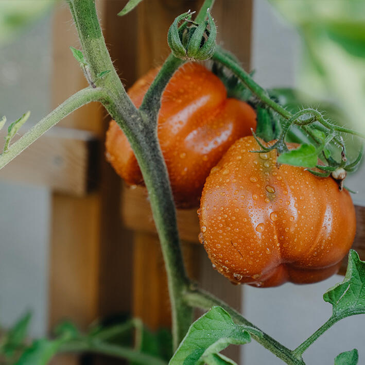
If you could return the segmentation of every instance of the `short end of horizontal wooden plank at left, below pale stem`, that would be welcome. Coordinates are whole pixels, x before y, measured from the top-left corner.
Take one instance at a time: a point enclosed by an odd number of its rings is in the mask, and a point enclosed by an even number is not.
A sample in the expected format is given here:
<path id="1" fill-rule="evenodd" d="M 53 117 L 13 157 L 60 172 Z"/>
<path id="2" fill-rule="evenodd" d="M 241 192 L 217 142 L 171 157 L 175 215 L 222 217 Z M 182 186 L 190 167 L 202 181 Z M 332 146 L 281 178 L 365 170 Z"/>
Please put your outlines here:
<path id="1" fill-rule="evenodd" d="M 0 180 L 83 196 L 97 185 L 98 148 L 93 133 L 54 127 L 5 166 Z"/>

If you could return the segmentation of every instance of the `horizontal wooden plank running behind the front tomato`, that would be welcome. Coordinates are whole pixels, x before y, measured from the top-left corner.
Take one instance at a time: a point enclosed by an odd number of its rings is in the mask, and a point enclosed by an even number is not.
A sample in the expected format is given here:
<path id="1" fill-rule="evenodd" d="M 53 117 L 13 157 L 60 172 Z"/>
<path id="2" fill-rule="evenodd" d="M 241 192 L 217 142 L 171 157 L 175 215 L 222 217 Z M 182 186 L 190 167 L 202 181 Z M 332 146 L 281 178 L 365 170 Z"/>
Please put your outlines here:
<path id="1" fill-rule="evenodd" d="M 365 207 L 355 205 L 357 230 L 353 248 L 365 260 Z M 146 189 L 140 186 L 135 188 L 124 187 L 121 205 L 124 224 L 133 230 L 155 233 L 156 229 L 152 213 L 147 200 Z M 199 220 L 196 210 L 179 210 L 178 225 L 181 239 L 189 242 L 198 242 Z M 344 258 L 341 273 L 346 270 L 347 258 Z"/>

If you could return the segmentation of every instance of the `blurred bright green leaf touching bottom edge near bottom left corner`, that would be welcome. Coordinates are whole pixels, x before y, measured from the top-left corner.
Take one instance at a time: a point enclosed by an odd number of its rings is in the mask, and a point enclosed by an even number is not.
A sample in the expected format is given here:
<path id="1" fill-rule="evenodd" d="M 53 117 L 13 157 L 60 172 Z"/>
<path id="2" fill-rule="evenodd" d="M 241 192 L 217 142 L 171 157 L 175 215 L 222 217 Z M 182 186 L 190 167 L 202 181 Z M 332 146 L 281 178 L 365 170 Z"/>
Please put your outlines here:
<path id="1" fill-rule="evenodd" d="M 57 353 L 62 340 L 38 340 L 23 353 L 15 365 L 47 365 Z"/>

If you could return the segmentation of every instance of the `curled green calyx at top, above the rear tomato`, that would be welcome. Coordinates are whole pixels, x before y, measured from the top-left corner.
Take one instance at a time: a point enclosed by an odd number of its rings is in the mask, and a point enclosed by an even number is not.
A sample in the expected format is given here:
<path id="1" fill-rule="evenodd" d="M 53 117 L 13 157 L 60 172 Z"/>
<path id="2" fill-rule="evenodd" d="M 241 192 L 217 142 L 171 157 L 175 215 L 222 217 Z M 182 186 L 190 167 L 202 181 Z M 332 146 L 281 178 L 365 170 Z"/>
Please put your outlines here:
<path id="1" fill-rule="evenodd" d="M 172 54 L 177 58 L 206 60 L 214 54 L 217 28 L 209 12 L 208 19 L 200 24 L 191 20 L 192 15 L 193 12 L 188 11 L 177 16 L 168 30 L 167 42 Z"/>

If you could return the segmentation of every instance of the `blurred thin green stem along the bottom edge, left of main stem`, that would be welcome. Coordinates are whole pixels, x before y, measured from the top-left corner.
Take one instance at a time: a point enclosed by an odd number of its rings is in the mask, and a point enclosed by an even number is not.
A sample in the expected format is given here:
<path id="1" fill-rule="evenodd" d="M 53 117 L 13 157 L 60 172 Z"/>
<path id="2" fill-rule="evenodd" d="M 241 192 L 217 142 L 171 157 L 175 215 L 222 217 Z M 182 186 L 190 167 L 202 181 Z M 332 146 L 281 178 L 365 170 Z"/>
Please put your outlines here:
<path id="1" fill-rule="evenodd" d="M 61 345 L 60 353 L 90 352 L 108 355 L 141 364 L 167 365 L 167 362 L 158 357 L 132 350 L 129 347 L 113 345 L 105 342 L 90 340 L 74 340 Z"/>

